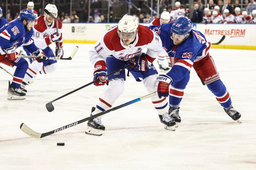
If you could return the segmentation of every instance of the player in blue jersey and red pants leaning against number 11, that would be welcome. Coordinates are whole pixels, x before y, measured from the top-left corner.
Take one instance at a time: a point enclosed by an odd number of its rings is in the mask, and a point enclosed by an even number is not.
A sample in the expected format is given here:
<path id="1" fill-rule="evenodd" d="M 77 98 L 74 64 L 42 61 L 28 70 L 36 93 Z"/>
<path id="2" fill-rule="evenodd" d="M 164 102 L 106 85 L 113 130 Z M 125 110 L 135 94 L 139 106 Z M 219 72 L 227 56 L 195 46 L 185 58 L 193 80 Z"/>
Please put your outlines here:
<path id="1" fill-rule="evenodd" d="M 220 80 L 209 54 L 211 42 L 208 42 L 201 32 L 192 29 L 191 20 L 181 17 L 174 23 L 161 27 L 151 26 L 151 29 L 159 34 L 163 47 L 172 57 L 172 69 L 166 75 L 158 76 L 156 91 L 159 98 L 169 95 L 169 114 L 175 120 L 176 127 L 181 122 L 179 106 L 189 81 L 191 67 L 195 69 L 203 84 L 216 96 L 225 112 L 233 120 L 241 122 L 241 115 L 233 108 L 229 93 Z"/>

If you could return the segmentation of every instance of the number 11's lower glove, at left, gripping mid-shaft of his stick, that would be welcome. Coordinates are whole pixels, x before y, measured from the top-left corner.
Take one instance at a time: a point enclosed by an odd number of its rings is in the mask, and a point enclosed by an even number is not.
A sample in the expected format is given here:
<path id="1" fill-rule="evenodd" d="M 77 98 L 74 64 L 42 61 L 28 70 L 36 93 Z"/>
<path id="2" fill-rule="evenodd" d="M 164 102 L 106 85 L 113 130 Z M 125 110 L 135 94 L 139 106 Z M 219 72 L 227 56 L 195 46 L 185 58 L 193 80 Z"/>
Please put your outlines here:
<path id="1" fill-rule="evenodd" d="M 106 63 L 101 60 L 95 63 L 94 67 L 95 68 L 93 72 L 94 74 L 93 81 L 98 80 L 97 82 L 94 83 L 94 85 L 96 86 L 105 85 L 108 82 Z"/>

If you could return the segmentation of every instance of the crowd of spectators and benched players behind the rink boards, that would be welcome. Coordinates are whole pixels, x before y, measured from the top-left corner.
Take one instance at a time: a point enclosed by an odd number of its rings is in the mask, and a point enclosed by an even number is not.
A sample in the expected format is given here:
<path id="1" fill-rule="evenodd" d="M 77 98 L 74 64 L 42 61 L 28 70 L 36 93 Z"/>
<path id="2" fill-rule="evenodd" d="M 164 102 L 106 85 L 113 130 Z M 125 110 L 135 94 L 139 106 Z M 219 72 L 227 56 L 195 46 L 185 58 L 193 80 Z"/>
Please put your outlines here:
<path id="1" fill-rule="evenodd" d="M 19 0 L 16 0 L 19 3 Z M 108 22 L 108 14 L 106 12 L 106 5 L 104 2 L 108 0 L 91 0 L 91 11 L 88 12 L 88 1 L 89 0 L 76 0 L 76 6 L 73 7 L 71 14 L 68 10 L 62 11 L 58 9 L 58 18 L 63 23 L 106 23 Z M 110 0 L 109 10 L 109 22 L 117 22 L 120 18 L 115 18 L 114 4 L 117 1 L 127 0 Z M 243 1 L 243 6 L 241 6 Z M 153 0 L 153 8 L 150 8 L 150 4 L 145 8 L 145 2 L 147 0 L 129 0 L 134 6 L 129 6 L 131 15 L 137 17 L 140 23 L 150 23 L 157 18 L 157 0 Z M 151 2 L 151 1 L 150 1 Z M 62 0 L 56 0 L 55 3 L 62 3 Z M 178 5 L 177 5 L 178 3 Z M 179 0 L 175 3 L 175 8 L 172 9 L 172 0 L 160 0 L 159 13 L 163 11 L 170 12 L 171 21 L 175 21 L 177 17 L 185 16 L 190 18 L 194 23 L 255 23 L 256 16 L 256 2 L 255 0 L 207 0 L 207 6 L 205 7 L 204 0 L 194 0 L 194 10 L 189 10 L 189 4 L 187 0 Z M 4 4 L 4 3 L 2 3 Z M 0 6 L 2 5 L 0 4 Z M 57 4 L 58 7 L 58 4 Z M 191 8 L 190 8 L 191 9 Z M 11 21 L 19 16 L 20 11 L 11 11 L 9 8 L 7 16 L 3 12 L 3 16 L 7 21 Z M 43 15 L 42 8 L 35 10 L 38 11 L 38 16 Z M 104 11 L 105 10 L 105 11 Z M 68 12 L 67 12 L 68 11 Z M 177 12 L 178 11 L 178 12 Z M 16 12 L 16 13 L 15 13 Z M 192 12 L 193 15 L 189 15 Z M 89 14 L 90 13 L 90 14 Z M 151 13 L 153 14 L 151 16 Z M 89 15 L 89 17 L 88 17 Z M 189 17 L 192 16 L 192 17 Z"/>

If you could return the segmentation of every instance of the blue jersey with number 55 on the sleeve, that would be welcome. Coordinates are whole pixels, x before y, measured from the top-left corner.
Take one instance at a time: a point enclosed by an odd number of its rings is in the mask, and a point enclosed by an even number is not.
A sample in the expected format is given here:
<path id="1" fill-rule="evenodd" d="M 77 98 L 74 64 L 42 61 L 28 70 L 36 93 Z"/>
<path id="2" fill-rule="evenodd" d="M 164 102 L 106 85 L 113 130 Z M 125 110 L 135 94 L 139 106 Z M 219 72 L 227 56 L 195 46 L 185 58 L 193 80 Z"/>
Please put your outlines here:
<path id="1" fill-rule="evenodd" d="M 0 29 L 0 54 L 5 54 L 4 49 L 14 46 L 20 47 L 23 43 L 28 46 L 29 52 L 33 53 L 38 48 L 31 40 L 34 31 L 26 31 L 25 27 L 19 19 L 12 20 Z"/>

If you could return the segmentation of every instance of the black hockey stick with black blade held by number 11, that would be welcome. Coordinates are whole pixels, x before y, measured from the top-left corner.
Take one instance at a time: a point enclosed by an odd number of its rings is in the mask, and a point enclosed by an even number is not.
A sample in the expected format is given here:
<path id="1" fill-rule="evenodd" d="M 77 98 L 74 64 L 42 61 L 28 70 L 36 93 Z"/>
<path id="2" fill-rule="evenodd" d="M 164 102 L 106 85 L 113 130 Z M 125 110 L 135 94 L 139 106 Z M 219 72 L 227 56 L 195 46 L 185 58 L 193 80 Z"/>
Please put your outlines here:
<path id="1" fill-rule="evenodd" d="M 119 69 L 119 70 L 116 70 L 116 71 L 114 71 L 114 72 L 108 74 L 107 77 L 110 76 L 110 75 L 112 75 L 112 74 L 115 74 L 116 72 L 122 71 L 122 70 L 124 70 L 124 69 L 130 67 L 131 65 L 132 65 L 132 64 L 129 64 L 129 65 L 127 65 L 127 66 L 125 66 L 125 67 L 123 67 L 123 68 L 121 68 L 121 69 Z M 83 85 L 83 86 L 81 86 L 81 87 L 79 87 L 79 88 L 73 90 L 72 92 L 68 92 L 67 94 L 62 95 L 62 96 L 58 97 L 57 99 L 54 99 L 54 100 L 50 101 L 49 103 L 46 103 L 46 105 L 45 105 L 45 106 L 46 106 L 46 109 L 48 110 L 48 112 L 52 112 L 52 111 L 54 110 L 54 107 L 53 107 L 53 105 L 52 105 L 52 102 L 54 102 L 54 101 L 56 101 L 56 100 L 59 100 L 59 99 L 65 97 L 65 96 L 68 96 L 69 94 L 72 94 L 72 93 L 74 93 L 74 92 L 76 92 L 76 91 L 78 91 L 78 90 L 81 90 L 82 88 L 84 88 L 84 87 L 86 87 L 86 86 L 88 86 L 88 85 L 91 85 L 91 84 L 93 84 L 93 83 L 95 83 L 95 82 L 97 82 L 97 81 L 99 81 L 99 80 L 94 80 L 94 81 L 92 81 L 92 82 L 90 82 L 90 83 L 88 83 L 88 84 L 86 84 L 86 85 Z"/>

